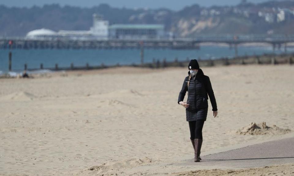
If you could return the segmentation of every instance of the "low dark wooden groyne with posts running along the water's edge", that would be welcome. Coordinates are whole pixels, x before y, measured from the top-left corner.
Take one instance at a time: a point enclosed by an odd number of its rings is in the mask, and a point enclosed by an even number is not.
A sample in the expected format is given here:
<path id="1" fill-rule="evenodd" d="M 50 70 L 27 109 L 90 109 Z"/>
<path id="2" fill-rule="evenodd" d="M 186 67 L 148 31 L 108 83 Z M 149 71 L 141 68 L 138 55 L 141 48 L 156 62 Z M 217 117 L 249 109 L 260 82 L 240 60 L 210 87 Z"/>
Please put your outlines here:
<path id="1" fill-rule="evenodd" d="M 40 64 L 40 68 L 29 68 L 25 64 L 24 68 L 29 71 L 36 71 L 41 69 L 47 69 L 52 71 L 61 71 L 61 70 L 94 70 L 94 69 L 105 69 L 105 68 L 114 68 L 114 67 L 141 67 L 141 68 L 168 68 L 168 67 L 187 67 L 190 59 L 197 59 L 201 67 L 212 67 L 212 66 L 221 66 L 221 65 L 247 65 L 247 64 L 293 64 L 294 63 L 294 53 L 291 54 L 263 54 L 256 56 L 243 56 L 243 57 L 234 57 L 234 58 L 218 58 L 218 59 L 208 59 L 202 60 L 201 58 L 186 58 L 186 60 L 179 61 L 178 58 L 175 58 L 173 61 L 166 61 L 166 59 L 153 59 L 152 63 L 144 64 L 130 64 L 130 65 L 121 65 L 119 63 L 115 65 L 90 65 L 85 64 L 85 66 L 75 66 L 74 63 L 71 63 L 68 67 L 59 67 L 58 64 L 55 64 L 54 68 L 46 68 L 43 64 Z"/>

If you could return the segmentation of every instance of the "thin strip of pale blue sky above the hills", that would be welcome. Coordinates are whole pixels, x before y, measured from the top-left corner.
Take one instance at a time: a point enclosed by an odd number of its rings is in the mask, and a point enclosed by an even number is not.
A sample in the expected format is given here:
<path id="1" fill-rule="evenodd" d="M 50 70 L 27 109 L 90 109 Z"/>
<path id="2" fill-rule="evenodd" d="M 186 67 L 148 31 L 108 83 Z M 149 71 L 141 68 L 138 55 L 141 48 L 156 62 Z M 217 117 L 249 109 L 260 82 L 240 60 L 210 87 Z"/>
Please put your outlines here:
<path id="1" fill-rule="evenodd" d="M 2 1 L 2 2 L 1 2 Z M 248 2 L 260 3 L 268 0 L 247 0 Z M 165 7 L 172 10 L 180 10 L 185 6 L 199 4 L 201 6 L 211 5 L 236 5 L 240 0 L 0 0 L 1 5 L 9 7 L 32 7 L 33 5 L 43 6 L 44 4 L 57 3 L 60 5 L 72 5 L 80 7 L 92 7 L 101 3 L 109 4 L 112 7 L 126 8 L 150 8 L 157 9 Z"/>

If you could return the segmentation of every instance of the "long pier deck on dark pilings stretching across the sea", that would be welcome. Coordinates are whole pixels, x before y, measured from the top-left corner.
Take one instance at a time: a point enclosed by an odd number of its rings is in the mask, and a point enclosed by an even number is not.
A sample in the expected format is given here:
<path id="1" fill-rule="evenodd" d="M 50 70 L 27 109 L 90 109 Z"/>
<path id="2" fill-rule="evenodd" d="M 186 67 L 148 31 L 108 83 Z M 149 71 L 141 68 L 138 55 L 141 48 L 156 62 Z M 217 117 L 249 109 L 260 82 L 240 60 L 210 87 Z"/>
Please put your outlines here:
<path id="1" fill-rule="evenodd" d="M 225 43 L 238 55 L 238 45 L 244 43 L 267 43 L 273 51 L 294 42 L 294 35 L 202 35 L 194 38 L 176 39 L 108 39 L 108 40 L 68 40 L 68 39 L 26 39 L 0 38 L 0 49 L 9 49 L 9 41 L 13 41 L 12 49 L 174 49 L 199 50 L 202 43 Z"/>

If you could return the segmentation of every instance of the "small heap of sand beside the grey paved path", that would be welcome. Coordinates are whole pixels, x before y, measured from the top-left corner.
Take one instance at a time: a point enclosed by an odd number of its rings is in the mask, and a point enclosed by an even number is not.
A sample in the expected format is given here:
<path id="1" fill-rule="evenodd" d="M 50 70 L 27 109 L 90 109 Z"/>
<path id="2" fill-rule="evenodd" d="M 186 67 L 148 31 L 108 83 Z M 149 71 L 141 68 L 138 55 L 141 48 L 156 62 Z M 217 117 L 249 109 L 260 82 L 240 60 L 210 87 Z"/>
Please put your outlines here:
<path id="1" fill-rule="evenodd" d="M 260 124 L 256 124 L 252 122 L 250 125 L 236 131 L 236 133 L 243 134 L 243 135 L 286 134 L 289 132 L 291 132 L 290 129 L 279 128 L 276 125 L 273 125 L 272 127 L 268 127 L 266 126 L 265 122 L 262 122 Z"/>

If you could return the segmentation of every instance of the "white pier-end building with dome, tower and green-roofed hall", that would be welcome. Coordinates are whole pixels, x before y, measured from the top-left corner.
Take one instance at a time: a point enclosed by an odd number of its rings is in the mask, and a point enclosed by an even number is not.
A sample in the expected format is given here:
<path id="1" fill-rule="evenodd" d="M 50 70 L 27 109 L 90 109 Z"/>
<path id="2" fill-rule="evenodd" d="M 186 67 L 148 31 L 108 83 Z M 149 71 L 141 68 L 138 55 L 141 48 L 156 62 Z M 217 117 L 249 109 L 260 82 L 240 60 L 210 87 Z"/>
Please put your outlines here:
<path id="1" fill-rule="evenodd" d="M 168 34 L 168 35 L 167 35 Z M 107 39 L 163 39 L 169 37 L 163 24 L 113 24 L 103 16 L 93 14 L 93 26 L 89 31 L 58 32 L 50 29 L 37 29 L 28 32 L 27 39 L 69 39 L 69 40 L 107 40 Z"/>

